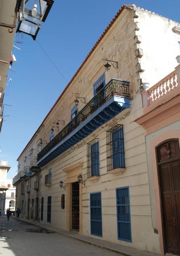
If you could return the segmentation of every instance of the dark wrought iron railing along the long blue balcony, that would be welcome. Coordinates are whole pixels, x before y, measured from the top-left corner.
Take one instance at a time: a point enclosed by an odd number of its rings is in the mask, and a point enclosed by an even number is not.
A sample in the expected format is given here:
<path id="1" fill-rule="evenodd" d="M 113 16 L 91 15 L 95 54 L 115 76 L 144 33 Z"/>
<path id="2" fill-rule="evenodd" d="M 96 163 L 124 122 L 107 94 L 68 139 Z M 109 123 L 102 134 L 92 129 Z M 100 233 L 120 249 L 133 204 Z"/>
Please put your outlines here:
<path id="1" fill-rule="evenodd" d="M 131 98 L 129 93 L 129 81 L 111 79 L 100 92 L 94 96 L 86 106 L 69 122 L 41 151 L 37 154 L 37 161 L 40 160 L 51 148 L 65 138 L 78 125 L 85 121 L 94 111 L 107 102 L 112 96 Z"/>

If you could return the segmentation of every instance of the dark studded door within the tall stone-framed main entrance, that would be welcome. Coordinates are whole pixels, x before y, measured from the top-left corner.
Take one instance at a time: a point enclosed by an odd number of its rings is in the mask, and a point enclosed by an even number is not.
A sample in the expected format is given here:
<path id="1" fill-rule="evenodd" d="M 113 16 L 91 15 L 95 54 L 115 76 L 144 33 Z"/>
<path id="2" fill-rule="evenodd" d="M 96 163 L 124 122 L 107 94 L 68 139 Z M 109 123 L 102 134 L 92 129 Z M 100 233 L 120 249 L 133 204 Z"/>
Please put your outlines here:
<path id="1" fill-rule="evenodd" d="M 80 227 L 80 185 L 72 183 L 72 229 L 79 230 Z"/>

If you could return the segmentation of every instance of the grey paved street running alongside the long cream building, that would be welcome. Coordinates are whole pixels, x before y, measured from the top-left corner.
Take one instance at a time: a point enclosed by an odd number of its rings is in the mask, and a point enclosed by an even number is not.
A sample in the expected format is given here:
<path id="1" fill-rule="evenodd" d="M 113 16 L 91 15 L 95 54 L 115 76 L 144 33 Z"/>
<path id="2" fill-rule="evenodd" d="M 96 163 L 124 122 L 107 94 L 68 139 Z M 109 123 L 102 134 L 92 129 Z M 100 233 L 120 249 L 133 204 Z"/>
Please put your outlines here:
<path id="1" fill-rule="evenodd" d="M 6 216 L 0 217 L 0 256 L 120 256 Z"/>

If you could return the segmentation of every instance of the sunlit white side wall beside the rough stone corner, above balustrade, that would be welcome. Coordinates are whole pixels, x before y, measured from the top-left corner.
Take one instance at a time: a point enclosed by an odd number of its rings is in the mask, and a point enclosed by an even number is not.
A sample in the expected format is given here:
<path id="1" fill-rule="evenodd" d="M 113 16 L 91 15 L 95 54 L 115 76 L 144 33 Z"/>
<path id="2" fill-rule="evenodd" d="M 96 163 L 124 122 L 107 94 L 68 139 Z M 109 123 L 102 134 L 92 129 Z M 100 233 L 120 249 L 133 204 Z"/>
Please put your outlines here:
<path id="1" fill-rule="evenodd" d="M 172 32 L 180 23 L 169 20 L 143 9 L 137 9 L 139 31 L 141 36 L 139 47 L 143 49 L 140 59 L 141 74 L 144 87 L 149 88 L 167 76 L 177 66 L 180 35 Z"/>

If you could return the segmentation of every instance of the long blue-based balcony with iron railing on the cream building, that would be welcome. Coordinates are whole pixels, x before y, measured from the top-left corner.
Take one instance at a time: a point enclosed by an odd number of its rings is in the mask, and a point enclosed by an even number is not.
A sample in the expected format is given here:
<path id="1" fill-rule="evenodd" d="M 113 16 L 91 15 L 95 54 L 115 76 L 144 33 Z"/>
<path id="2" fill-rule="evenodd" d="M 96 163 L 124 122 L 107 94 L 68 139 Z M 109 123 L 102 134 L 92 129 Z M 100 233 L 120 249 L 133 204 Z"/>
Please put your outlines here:
<path id="1" fill-rule="evenodd" d="M 37 154 L 37 165 L 51 160 L 89 136 L 126 108 L 130 108 L 129 82 L 111 79 L 100 92 Z"/>

